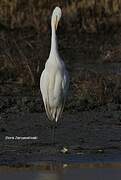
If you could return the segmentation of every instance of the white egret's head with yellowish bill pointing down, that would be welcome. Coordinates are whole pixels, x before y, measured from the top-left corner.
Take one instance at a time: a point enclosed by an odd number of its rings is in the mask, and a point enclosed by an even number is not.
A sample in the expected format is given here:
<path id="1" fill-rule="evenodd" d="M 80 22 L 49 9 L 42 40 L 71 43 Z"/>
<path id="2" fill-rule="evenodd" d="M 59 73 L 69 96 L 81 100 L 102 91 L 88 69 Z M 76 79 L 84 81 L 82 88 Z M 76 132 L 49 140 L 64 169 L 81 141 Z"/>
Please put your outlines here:
<path id="1" fill-rule="evenodd" d="M 54 10 L 53 10 L 53 13 L 52 13 L 52 20 L 51 20 L 51 24 L 52 26 L 54 25 L 55 29 L 57 30 L 57 27 L 58 27 L 58 22 L 61 18 L 61 15 L 62 15 L 62 11 L 59 7 L 56 7 Z"/>

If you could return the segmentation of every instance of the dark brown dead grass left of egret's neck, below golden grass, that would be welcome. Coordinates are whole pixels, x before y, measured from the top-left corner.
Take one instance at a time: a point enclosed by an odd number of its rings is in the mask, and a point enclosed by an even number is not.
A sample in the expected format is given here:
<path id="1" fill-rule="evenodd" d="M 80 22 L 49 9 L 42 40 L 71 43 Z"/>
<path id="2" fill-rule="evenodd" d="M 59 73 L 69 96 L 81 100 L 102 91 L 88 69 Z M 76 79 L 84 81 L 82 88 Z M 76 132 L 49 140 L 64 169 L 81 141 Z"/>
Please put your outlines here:
<path id="1" fill-rule="evenodd" d="M 22 31 L 3 32 L 3 35 L 0 33 L 0 71 L 5 72 L 3 78 L 8 76 L 8 81 L 10 77 L 6 70 L 13 72 L 16 83 L 35 86 L 44 65 L 42 52 L 44 42 L 41 43 L 42 38 L 38 39 L 34 30 L 23 32 L 24 35 Z"/>

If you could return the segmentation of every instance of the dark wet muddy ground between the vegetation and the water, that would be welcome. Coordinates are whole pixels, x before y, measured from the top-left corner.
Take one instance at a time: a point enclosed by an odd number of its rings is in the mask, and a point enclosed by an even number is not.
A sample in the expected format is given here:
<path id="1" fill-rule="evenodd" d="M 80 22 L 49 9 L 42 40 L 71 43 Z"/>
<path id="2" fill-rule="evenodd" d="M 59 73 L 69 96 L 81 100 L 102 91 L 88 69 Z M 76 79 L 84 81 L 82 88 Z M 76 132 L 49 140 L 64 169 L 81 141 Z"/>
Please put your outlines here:
<path id="1" fill-rule="evenodd" d="M 53 156 L 116 155 L 121 151 L 121 106 L 117 104 L 65 112 L 56 128 L 54 145 L 45 113 L 2 114 L 0 121 L 1 164 L 36 163 Z M 8 136 L 14 139 L 6 139 Z M 16 136 L 36 139 L 17 140 Z"/>

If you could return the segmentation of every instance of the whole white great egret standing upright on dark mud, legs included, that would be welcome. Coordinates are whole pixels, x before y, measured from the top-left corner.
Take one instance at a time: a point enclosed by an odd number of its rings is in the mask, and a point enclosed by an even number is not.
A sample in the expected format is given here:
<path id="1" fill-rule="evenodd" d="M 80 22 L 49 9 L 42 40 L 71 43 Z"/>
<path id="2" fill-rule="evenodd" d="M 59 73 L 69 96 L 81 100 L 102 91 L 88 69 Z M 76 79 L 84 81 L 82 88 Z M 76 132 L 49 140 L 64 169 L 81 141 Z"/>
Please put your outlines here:
<path id="1" fill-rule="evenodd" d="M 63 111 L 67 90 L 69 86 L 68 72 L 65 64 L 59 56 L 56 39 L 56 30 L 61 18 L 61 9 L 56 7 L 51 18 L 51 50 L 40 78 L 40 90 L 46 110 L 46 114 L 52 122 L 58 121 Z M 54 126 L 52 128 L 54 138 Z M 52 140 L 53 141 L 53 140 Z"/>

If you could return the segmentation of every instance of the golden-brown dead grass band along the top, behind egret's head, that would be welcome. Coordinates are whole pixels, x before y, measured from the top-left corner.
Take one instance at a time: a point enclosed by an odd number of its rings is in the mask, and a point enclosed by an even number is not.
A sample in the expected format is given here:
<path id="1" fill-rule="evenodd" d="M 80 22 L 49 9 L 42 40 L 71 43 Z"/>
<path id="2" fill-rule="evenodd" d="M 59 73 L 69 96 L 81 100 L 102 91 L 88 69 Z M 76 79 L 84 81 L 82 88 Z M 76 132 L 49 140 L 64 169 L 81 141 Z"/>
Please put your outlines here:
<path id="1" fill-rule="evenodd" d="M 1 0 L 0 22 L 11 29 L 32 26 L 46 31 L 55 6 L 61 6 L 67 27 L 75 22 L 78 28 L 96 32 L 100 26 L 121 24 L 120 0 Z M 70 26 L 69 26 L 70 25 Z"/>

